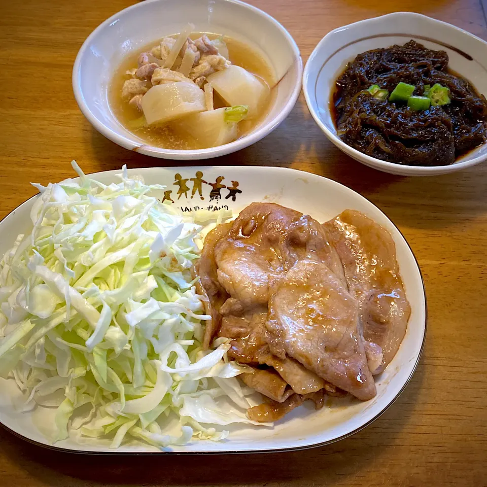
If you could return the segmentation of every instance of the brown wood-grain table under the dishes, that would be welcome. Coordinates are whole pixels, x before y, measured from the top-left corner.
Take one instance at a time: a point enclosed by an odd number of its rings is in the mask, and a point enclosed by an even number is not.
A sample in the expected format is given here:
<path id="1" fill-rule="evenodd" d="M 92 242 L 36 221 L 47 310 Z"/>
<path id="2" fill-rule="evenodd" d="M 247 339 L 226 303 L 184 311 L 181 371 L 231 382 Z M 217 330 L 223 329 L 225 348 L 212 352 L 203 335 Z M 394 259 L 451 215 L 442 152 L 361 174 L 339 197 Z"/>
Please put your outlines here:
<path id="1" fill-rule="evenodd" d="M 78 110 L 71 69 L 82 42 L 130 0 L 14 0 L 0 14 L 0 218 L 46 184 L 86 172 L 171 164 L 126 151 Z M 281 21 L 305 61 L 331 29 L 394 10 L 421 12 L 487 39 L 485 0 L 252 0 Z M 254 146 L 219 164 L 281 165 L 343 183 L 377 204 L 409 241 L 428 294 L 420 365 L 396 403 L 355 436 L 295 453 L 229 457 L 80 457 L 0 430 L 0 485 L 487 485 L 487 164 L 403 178 L 343 155 L 301 96 Z M 1 236 L 5 238 L 4 235 Z"/>

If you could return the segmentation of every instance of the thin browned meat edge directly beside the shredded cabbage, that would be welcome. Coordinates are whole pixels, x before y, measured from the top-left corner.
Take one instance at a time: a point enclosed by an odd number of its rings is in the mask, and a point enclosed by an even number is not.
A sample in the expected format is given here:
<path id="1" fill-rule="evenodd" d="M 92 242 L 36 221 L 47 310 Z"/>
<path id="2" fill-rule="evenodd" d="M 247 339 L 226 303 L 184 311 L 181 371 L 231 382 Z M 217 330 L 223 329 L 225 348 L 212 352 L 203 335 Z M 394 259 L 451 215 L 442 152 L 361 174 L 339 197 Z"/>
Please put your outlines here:
<path id="1" fill-rule="evenodd" d="M 231 226 L 232 222 L 222 223 L 206 235 L 201 258 L 194 268 L 195 273 L 200 277 L 196 284 L 196 289 L 199 294 L 207 296 L 208 302 L 205 303 L 206 313 L 212 317 L 211 322 L 206 322 L 204 330 L 204 350 L 210 348 L 213 338 L 220 329 L 222 321 L 220 308 L 228 298 L 228 293 L 218 282 L 215 246 L 221 238 L 226 237 Z"/>

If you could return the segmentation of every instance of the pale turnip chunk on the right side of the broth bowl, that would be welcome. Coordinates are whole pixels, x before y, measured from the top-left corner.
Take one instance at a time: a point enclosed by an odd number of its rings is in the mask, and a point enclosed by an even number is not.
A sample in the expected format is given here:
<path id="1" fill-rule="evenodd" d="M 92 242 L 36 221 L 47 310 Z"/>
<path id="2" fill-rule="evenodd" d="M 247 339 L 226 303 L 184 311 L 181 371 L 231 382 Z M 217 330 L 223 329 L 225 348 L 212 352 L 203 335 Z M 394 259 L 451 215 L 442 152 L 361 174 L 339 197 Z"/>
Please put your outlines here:
<path id="1" fill-rule="evenodd" d="M 269 87 L 263 81 L 235 64 L 213 73 L 206 80 L 229 106 L 247 105 L 249 118 L 259 115 L 270 94 Z"/>

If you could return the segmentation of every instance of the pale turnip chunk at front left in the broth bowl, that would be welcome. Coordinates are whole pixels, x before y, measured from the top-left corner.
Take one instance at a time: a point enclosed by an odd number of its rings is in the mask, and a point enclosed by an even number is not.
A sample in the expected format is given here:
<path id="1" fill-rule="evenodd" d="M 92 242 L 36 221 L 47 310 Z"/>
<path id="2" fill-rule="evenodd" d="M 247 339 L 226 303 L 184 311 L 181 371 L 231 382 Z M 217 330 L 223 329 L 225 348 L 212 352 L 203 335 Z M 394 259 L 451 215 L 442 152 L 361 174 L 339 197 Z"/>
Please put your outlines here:
<path id="1" fill-rule="evenodd" d="M 153 86 L 142 98 L 141 105 L 149 125 L 206 110 L 203 90 L 189 81 Z"/>

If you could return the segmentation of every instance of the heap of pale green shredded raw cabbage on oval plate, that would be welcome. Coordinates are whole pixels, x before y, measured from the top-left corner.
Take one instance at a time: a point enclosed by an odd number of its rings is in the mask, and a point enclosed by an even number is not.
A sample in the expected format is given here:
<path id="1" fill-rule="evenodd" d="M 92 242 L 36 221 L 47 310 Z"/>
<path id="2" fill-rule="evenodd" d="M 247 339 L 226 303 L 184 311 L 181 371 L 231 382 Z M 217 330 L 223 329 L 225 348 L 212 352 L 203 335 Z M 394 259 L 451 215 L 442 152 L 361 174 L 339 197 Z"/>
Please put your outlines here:
<path id="1" fill-rule="evenodd" d="M 248 368 L 228 362 L 224 340 L 202 350 L 211 317 L 191 274 L 202 234 L 231 213 L 183 214 L 125 166 L 105 185 L 72 164 L 79 182 L 34 185 L 32 232 L 0 261 L 0 376 L 24 410 L 57 406 L 53 441 L 167 447 L 228 435 L 208 424 L 253 424 L 235 379 Z"/>

